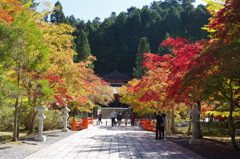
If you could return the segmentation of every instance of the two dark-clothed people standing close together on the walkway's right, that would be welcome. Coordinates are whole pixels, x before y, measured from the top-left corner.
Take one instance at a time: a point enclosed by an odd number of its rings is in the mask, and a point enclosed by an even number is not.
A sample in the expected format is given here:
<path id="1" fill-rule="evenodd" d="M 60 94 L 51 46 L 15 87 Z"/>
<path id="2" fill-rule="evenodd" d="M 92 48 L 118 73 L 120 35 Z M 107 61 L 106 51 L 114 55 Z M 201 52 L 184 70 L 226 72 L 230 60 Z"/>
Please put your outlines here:
<path id="1" fill-rule="evenodd" d="M 161 111 L 158 111 L 156 116 L 156 138 L 155 139 L 163 139 L 164 138 L 164 128 L 165 128 L 165 117 L 166 114 L 161 114 Z"/>

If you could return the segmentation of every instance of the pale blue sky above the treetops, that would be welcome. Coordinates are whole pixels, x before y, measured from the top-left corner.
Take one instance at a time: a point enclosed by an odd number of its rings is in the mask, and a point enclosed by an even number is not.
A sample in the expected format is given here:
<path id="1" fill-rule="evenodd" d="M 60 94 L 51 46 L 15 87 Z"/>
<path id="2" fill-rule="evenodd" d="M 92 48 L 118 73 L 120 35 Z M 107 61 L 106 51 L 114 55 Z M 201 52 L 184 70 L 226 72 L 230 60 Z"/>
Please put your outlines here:
<path id="1" fill-rule="evenodd" d="M 51 2 L 52 6 L 55 5 L 57 0 L 39 0 Z M 105 18 L 110 17 L 112 12 L 117 15 L 120 12 L 127 12 L 130 7 L 142 9 L 145 5 L 151 5 L 154 0 L 59 0 L 63 7 L 65 16 L 74 15 L 84 21 L 92 21 L 96 17 L 103 21 Z M 156 0 L 155 0 L 156 1 Z M 158 1 L 158 0 L 157 0 Z M 194 5 L 204 3 L 202 0 L 195 0 Z"/>

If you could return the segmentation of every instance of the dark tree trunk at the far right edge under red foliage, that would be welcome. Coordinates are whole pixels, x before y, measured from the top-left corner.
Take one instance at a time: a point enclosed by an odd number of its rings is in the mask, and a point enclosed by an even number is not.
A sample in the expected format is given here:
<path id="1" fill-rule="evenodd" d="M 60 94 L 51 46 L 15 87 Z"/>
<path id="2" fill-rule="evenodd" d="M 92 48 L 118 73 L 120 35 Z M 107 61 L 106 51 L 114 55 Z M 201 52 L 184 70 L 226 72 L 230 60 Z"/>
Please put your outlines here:
<path id="1" fill-rule="evenodd" d="M 232 116 L 233 109 L 234 109 L 233 102 L 230 101 L 230 113 L 229 113 L 229 117 L 228 117 L 228 124 L 229 124 L 231 142 L 232 142 L 233 148 L 235 150 L 239 151 L 240 148 L 238 147 L 237 142 L 236 142 L 236 138 L 235 138 L 236 128 L 235 128 L 234 119 L 233 119 L 233 116 Z"/>

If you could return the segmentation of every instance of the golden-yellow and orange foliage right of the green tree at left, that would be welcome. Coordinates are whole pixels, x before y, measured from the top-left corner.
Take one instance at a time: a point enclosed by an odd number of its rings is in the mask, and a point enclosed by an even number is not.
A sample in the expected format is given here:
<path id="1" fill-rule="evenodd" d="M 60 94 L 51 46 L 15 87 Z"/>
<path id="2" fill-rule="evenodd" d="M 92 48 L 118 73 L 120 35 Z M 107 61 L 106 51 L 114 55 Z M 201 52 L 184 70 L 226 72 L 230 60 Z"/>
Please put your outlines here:
<path id="1" fill-rule="evenodd" d="M 54 87 L 66 88 L 67 95 L 72 98 L 71 102 L 77 106 L 84 106 L 84 108 L 79 109 L 86 111 L 92 108 L 94 103 L 89 99 L 89 96 L 99 93 L 96 88 L 101 84 L 101 79 L 93 74 L 92 69 L 87 67 L 96 58 L 90 56 L 86 61 L 73 62 L 73 55 L 76 52 L 71 49 L 71 41 L 74 37 L 69 33 L 72 33 L 74 28 L 70 25 L 41 22 L 39 26 L 41 26 L 44 39 L 51 49 L 51 67 L 48 72 L 58 74 L 64 81 L 63 83 L 55 83 Z M 55 93 L 58 93 L 57 90 Z M 85 107 L 86 105 L 89 108 Z"/>

